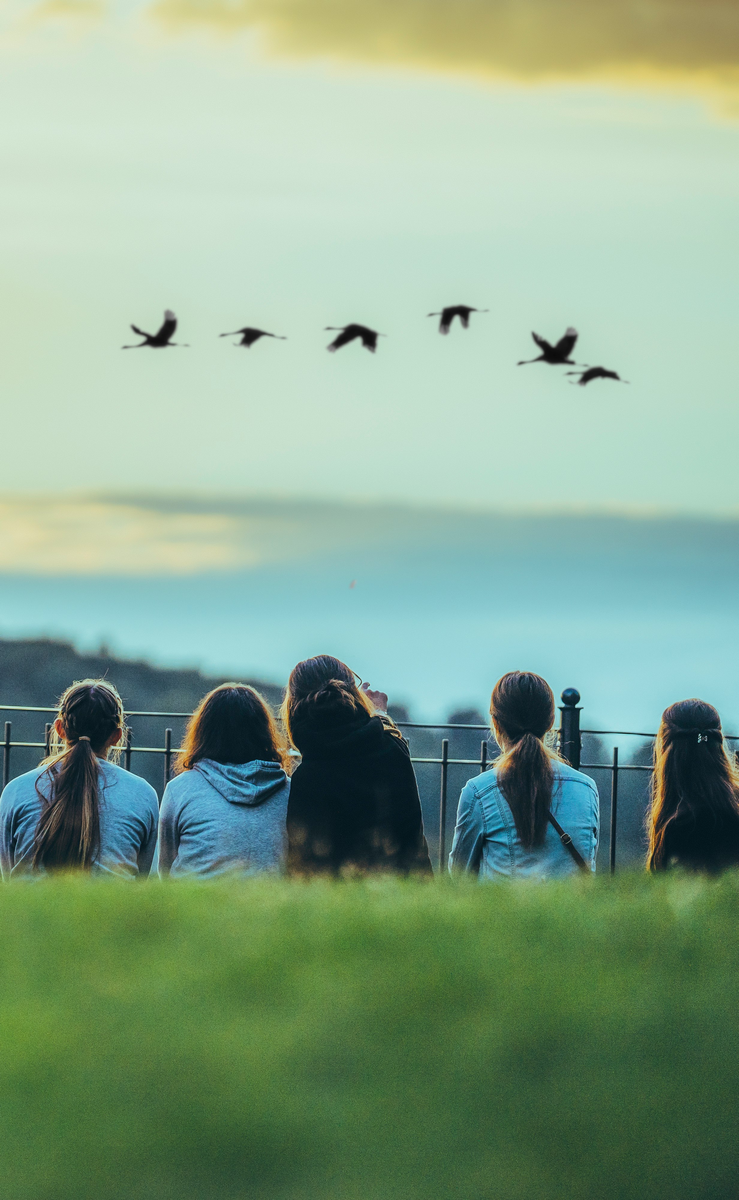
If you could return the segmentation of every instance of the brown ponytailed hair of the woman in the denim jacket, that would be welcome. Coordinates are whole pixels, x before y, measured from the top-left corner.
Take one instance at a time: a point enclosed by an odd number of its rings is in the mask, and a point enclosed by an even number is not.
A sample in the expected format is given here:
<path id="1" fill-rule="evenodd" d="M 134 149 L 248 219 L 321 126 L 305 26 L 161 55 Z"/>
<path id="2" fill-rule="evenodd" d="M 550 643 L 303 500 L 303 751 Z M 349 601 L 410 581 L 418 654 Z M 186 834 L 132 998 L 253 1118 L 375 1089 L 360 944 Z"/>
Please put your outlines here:
<path id="1" fill-rule="evenodd" d="M 541 846 L 552 804 L 552 761 L 559 758 L 543 744 L 554 724 L 554 694 L 541 676 L 509 671 L 493 688 L 491 718 L 507 743 L 495 775 L 516 832 L 527 850 Z"/>

